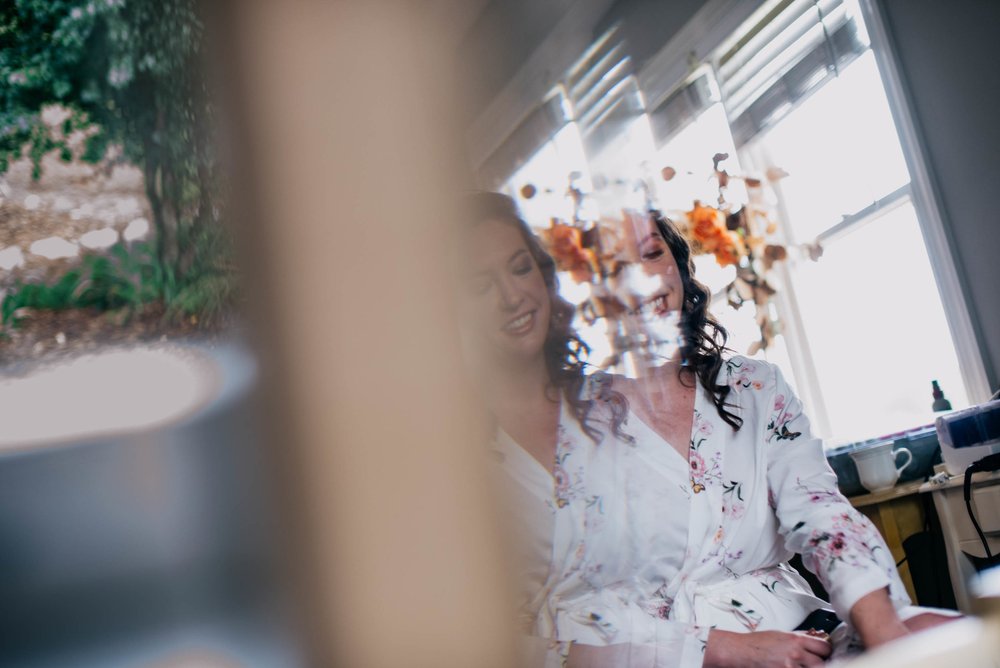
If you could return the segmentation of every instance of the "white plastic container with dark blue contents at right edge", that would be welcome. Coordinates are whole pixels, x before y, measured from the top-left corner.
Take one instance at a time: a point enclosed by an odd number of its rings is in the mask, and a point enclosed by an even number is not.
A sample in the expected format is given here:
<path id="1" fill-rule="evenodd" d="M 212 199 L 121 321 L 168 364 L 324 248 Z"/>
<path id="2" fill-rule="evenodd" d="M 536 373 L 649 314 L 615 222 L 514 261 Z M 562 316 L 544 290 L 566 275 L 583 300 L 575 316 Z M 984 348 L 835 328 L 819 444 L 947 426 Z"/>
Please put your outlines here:
<path id="1" fill-rule="evenodd" d="M 948 475 L 962 475 L 969 464 L 1000 452 L 1000 401 L 942 415 L 936 426 Z"/>

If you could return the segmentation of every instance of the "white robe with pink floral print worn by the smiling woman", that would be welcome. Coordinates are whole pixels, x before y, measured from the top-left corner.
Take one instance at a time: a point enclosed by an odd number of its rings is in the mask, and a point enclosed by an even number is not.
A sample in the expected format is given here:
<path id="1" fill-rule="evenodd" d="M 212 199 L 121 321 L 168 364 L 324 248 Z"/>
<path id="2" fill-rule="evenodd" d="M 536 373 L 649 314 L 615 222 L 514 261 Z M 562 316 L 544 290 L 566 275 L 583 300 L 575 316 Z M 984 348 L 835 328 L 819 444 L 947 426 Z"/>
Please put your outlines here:
<path id="1" fill-rule="evenodd" d="M 574 642 L 612 646 L 614 665 L 700 666 L 710 628 L 792 630 L 831 607 L 787 565 L 796 552 L 841 619 L 883 587 L 897 608 L 909 604 L 778 369 L 735 357 L 719 382 L 743 426 L 722 421 L 699 384 L 686 462 L 634 413 L 623 425 L 634 441 L 612 435 L 599 399 L 588 419 L 599 443 L 564 402 L 554 479 L 499 434 L 536 663 L 559 665 Z"/>

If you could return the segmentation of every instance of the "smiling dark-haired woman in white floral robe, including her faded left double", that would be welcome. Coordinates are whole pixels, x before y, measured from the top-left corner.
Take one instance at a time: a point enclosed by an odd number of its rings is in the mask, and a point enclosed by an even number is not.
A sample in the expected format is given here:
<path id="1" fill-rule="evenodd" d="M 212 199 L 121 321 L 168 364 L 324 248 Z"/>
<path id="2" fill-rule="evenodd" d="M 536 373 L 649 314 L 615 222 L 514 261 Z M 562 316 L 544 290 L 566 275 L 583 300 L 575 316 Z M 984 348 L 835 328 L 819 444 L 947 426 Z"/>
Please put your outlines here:
<path id="1" fill-rule="evenodd" d="M 627 230 L 614 286 L 645 342 L 637 373 L 585 378 L 572 307 L 513 202 L 483 194 L 472 217 L 462 345 L 518 534 L 523 665 L 816 666 L 944 619 L 909 607 L 777 368 L 722 357 L 667 221 Z M 803 626 L 830 607 L 832 638 Z"/>

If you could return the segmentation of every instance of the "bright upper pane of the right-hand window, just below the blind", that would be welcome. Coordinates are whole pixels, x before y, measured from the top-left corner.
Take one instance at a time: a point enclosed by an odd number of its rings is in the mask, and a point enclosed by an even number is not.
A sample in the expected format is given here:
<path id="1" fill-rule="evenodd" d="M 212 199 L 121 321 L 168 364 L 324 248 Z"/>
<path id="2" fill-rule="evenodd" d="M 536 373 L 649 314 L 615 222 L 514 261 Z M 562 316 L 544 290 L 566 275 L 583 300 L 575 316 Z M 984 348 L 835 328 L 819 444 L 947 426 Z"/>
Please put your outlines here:
<path id="1" fill-rule="evenodd" d="M 763 139 L 797 241 L 811 241 L 909 182 L 871 51 L 786 116 Z"/>

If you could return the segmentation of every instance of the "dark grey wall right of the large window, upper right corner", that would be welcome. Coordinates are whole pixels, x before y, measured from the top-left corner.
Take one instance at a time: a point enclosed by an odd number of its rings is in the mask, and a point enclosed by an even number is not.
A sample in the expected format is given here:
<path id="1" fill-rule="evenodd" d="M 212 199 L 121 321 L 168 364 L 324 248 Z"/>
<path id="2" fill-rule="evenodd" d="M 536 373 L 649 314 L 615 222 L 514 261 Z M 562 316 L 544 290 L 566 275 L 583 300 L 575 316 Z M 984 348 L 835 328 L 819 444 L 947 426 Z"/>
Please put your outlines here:
<path id="1" fill-rule="evenodd" d="M 1000 2 L 879 0 L 991 387 L 1000 385 Z"/>

